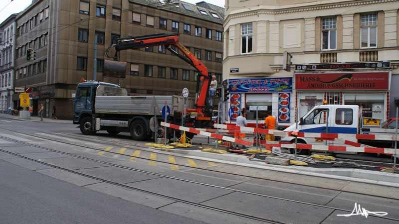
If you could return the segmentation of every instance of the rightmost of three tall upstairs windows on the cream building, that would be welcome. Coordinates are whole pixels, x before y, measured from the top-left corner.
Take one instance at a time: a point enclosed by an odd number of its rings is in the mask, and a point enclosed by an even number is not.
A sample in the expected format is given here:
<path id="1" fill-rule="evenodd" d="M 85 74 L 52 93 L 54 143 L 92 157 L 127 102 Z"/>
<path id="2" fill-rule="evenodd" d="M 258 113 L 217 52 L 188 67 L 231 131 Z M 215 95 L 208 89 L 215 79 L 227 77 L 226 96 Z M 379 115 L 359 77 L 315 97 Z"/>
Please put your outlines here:
<path id="1" fill-rule="evenodd" d="M 360 31 L 362 48 L 377 47 L 377 14 L 362 15 Z"/>

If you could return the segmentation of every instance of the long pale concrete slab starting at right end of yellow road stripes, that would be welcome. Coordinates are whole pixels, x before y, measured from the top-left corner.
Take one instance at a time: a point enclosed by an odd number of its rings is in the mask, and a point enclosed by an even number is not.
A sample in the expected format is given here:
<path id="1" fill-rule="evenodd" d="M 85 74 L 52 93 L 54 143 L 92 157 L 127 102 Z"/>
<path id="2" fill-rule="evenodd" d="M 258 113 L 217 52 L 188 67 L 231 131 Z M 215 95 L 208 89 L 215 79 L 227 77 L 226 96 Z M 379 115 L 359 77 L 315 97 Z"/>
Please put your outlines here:
<path id="1" fill-rule="evenodd" d="M 349 181 L 342 181 L 342 180 L 322 178 L 322 177 L 313 177 L 313 176 L 306 176 L 300 174 L 291 174 L 291 173 L 257 169 L 257 168 L 249 168 L 249 167 L 238 168 L 237 166 L 233 165 L 218 165 L 218 166 L 208 167 L 206 169 L 227 172 L 237 175 L 245 175 L 255 178 L 263 178 L 267 180 L 282 181 L 292 184 L 322 187 L 332 190 L 340 190 L 349 183 Z"/>

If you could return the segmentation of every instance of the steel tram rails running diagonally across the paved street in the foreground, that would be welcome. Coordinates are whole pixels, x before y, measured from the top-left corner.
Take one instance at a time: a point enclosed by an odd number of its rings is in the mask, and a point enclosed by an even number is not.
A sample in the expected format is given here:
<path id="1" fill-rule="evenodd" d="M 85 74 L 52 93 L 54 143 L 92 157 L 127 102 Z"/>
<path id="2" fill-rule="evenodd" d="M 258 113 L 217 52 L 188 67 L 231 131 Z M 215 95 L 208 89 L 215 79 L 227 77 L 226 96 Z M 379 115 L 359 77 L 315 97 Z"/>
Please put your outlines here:
<path id="1" fill-rule="evenodd" d="M 2 128 L 2 129 L 5 129 L 5 128 Z M 19 132 L 19 133 L 22 133 L 22 132 Z M 25 133 L 23 133 L 23 134 L 25 134 Z M 25 135 L 28 135 L 28 134 L 25 134 Z M 33 136 L 33 137 L 37 138 L 37 136 L 35 136 L 35 135 L 30 135 L 30 136 Z M 135 169 L 135 168 L 131 168 L 131 167 L 126 167 L 126 166 L 122 166 L 122 165 L 117 165 L 117 164 L 113 164 L 113 163 L 110 163 L 110 162 L 104 162 L 104 161 L 100 161 L 100 160 L 96 160 L 96 159 L 91 159 L 91 158 L 87 158 L 87 157 L 84 157 L 84 156 L 75 155 L 75 154 L 72 154 L 72 153 L 67 153 L 67 152 L 58 151 L 58 150 L 55 150 L 55 149 L 51 149 L 51 148 L 47 148 L 47 147 L 43 147 L 43 146 L 38 146 L 38 145 L 35 145 L 35 144 L 23 142 L 23 141 L 18 141 L 18 140 L 12 139 L 12 138 L 7 138 L 7 137 L 3 137 L 3 136 L 1 136 L 0 138 L 6 139 L 6 140 L 10 140 L 10 141 L 14 141 L 14 142 L 18 142 L 18 143 L 25 144 L 25 145 L 29 145 L 29 146 L 33 146 L 33 147 L 37 147 L 37 148 L 41 148 L 41 149 L 45 149 L 45 150 L 49 150 L 49 151 L 52 151 L 52 152 L 61 153 L 61 154 L 68 155 L 68 156 L 71 156 L 71 157 L 76 157 L 76 158 L 85 159 L 85 160 L 88 160 L 88 161 L 102 163 L 102 164 L 108 165 L 108 166 L 114 166 L 114 167 L 118 167 L 118 168 L 122 168 L 122 169 L 126 169 L 126 170 L 132 170 L 132 171 L 136 171 L 136 172 L 156 175 L 156 176 L 159 176 L 159 177 L 170 178 L 170 179 L 174 179 L 174 180 L 178 180 L 178 181 L 184 181 L 184 182 L 189 182 L 189 183 L 193 183 L 193 184 L 199 184 L 199 185 L 203 185 L 203 186 L 229 190 L 229 191 L 232 191 L 232 192 L 240 192 L 240 193 L 243 193 L 243 194 L 255 195 L 255 196 L 259 196 L 259 197 L 266 197 L 266 198 L 272 198 L 272 199 L 277 199 L 277 200 L 282 200 L 282 201 L 288 201 L 288 202 L 291 202 L 291 203 L 299 203 L 299 204 L 315 206 L 315 207 L 319 207 L 319 208 L 332 209 L 333 212 L 335 212 L 335 211 L 342 211 L 342 212 L 348 212 L 348 213 L 352 212 L 352 211 L 347 210 L 347 209 L 341 209 L 341 208 L 336 208 L 336 207 L 331 207 L 331 206 L 325 206 L 325 205 L 320 205 L 320 204 L 315 204 L 315 203 L 309 203 L 309 202 L 305 202 L 305 201 L 292 200 L 292 199 L 288 199 L 288 198 L 276 197 L 276 196 L 266 195 L 266 194 L 259 194 L 259 193 L 254 193 L 254 192 L 238 190 L 238 189 L 234 189 L 234 188 L 230 188 L 230 187 L 223 187 L 223 186 L 218 186 L 218 185 L 213 185 L 213 184 L 208 184 L 208 183 L 202 183 L 202 182 L 187 180 L 187 179 L 183 179 L 183 178 L 177 178 L 177 177 L 173 177 L 173 176 L 164 175 L 164 174 L 161 174 L 161 173 L 155 173 L 155 172 Z M 43 138 L 43 137 L 38 137 L 38 138 L 51 140 L 51 141 L 58 141 L 58 140 L 53 140 L 53 139 L 48 139 L 48 138 Z M 58 141 L 58 142 L 64 143 L 64 144 L 76 145 L 76 146 L 80 146 L 80 147 L 84 147 L 84 148 L 91 148 L 91 147 L 81 146 L 81 145 L 67 143 L 67 142 L 62 142 L 62 141 Z M 96 149 L 96 148 L 91 148 L 91 149 L 99 150 L 99 149 Z M 85 177 L 88 177 L 88 178 L 96 179 L 96 180 L 99 180 L 99 181 L 102 181 L 102 182 L 105 182 L 105 183 L 117 185 L 117 186 L 120 186 L 120 187 L 128 188 L 128 189 L 131 189 L 131 190 L 136 190 L 136 191 L 140 191 L 140 192 L 144 192 L 144 193 L 148 193 L 148 194 L 152 194 L 152 195 L 156 195 L 156 196 L 160 196 L 160 197 L 164 197 L 164 198 L 168 198 L 168 199 L 175 200 L 175 201 L 178 201 L 178 202 L 181 202 L 181 203 L 190 204 L 190 205 L 198 206 L 198 207 L 201 207 L 201 208 L 210 209 L 210 210 L 213 210 L 213 211 L 218 211 L 218 212 L 227 213 L 227 214 L 231 214 L 231 215 L 236 215 L 236 216 L 240 216 L 240 217 L 243 217 L 243 218 L 248 218 L 248 219 L 252 219 L 252 220 L 256 220 L 256 221 L 262 221 L 262 222 L 267 222 L 267 223 L 285 223 L 285 222 L 276 221 L 276 220 L 272 220 L 272 219 L 254 217 L 254 216 L 251 216 L 251 215 L 238 213 L 238 212 L 234 212 L 234 211 L 229 211 L 229 210 L 225 210 L 225 209 L 221 209 L 221 208 L 215 208 L 215 207 L 203 205 L 203 204 L 192 202 L 192 201 L 179 199 L 179 198 L 176 198 L 176 197 L 173 197 L 173 196 L 168 196 L 168 195 L 165 195 L 165 194 L 160 194 L 160 193 L 147 191 L 147 190 L 140 189 L 140 188 L 135 188 L 135 187 L 128 186 L 128 185 L 125 185 L 125 184 L 120 184 L 120 183 L 116 183 L 116 182 L 113 182 L 113 181 L 109 181 L 109 180 L 105 180 L 105 179 L 102 179 L 102 178 L 98 178 L 98 177 L 95 177 L 95 176 L 92 176 L 92 175 L 83 174 L 83 173 L 74 171 L 72 169 L 67 169 L 67 168 L 56 166 L 54 164 L 49 164 L 49 163 L 46 163 L 46 162 L 38 161 L 36 159 L 32 159 L 32 158 L 23 156 L 21 154 L 9 152 L 9 151 L 3 150 L 3 149 L 0 149 L 0 151 L 4 152 L 4 153 L 11 154 L 11 155 L 14 155 L 14 156 L 17 156 L 17 157 L 28 159 L 30 161 L 41 163 L 43 165 L 51 166 L 53 168 L 61 169 L 61 170 L 64 170 L 64 171 L 67 171 L 67 172 L 71 172 L 71 173 L 74 173 L 74 174 L 78 174 L 78 175 L 81 175 L 81 176 L 85 176 Z M 102 151 L 102 150 L 100 150 L 100 151 Z M 120 153 L 115 153 L 115 154 L 120 154 Z M 130 156 L 130 155 L 126 155 L 126 154 L 123 154 L 123 155 Z M 162 163 L 167 163 L 167 162 L 162 162 Z M 190 168 L 193 168 L 193 167 L 190 167 Z M 201 169 L 201 168 L 196 168 L 196 169 Z M 213 171 L 213 172 L 218 172 L 218 171 Z M 220 173 L 224 173 L 224 172 L 220 172 Z M 234 175 L 236 175 L 236 174 L 234 174 Z M 241 175 L 238 175 L 238 176 L 241 176 Z M 260 178 L 260 179 L 262 179 L 262 178 Z M 307 186 L 307 187 L 309 187 L 309 186 Z M 341 192 L 345 192 L 345 191 L 341 191 Z M 364 195 L 367 195 L 367 194 L 364 194 Z M 208 201 L 208 200 L 206 200 L 206 201 Z M 380 219 L 387 219 L 387 220 L 392 220 L 392 221 L 399 222 L 399 219 L 395 219 L 395 218 L 379 217 L 379 216 L 374 216 L 374 215 L 369 215 L 369 216 L 380 218 Z"/>

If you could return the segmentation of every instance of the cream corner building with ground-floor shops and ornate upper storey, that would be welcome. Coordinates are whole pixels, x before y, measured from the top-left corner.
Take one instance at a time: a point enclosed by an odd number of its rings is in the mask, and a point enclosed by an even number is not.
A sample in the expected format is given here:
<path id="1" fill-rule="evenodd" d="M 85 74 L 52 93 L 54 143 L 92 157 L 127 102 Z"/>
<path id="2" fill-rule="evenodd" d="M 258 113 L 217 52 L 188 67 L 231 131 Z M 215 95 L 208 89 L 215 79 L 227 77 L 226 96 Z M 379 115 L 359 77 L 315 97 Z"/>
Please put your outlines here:
<path id="1" fill-rule="evenodd" d="M 398 8 L 398 0 L 225 0 L 223 79 L 240 99 L 235 104 L 249 120 L 258 106 L 259 117 L 271 112 L 280 125 L 295 122 L 295 108 L 302 117 L 324 101 L 359 105 L 363 116 L 383 121 L 393 116 Z M 284 51 L 292 56 L 289 72 Z M 390 66 L 380 68 L 383 61 Z M 349 71 L 299 66 L 349 62 L 370 64 Z"/>

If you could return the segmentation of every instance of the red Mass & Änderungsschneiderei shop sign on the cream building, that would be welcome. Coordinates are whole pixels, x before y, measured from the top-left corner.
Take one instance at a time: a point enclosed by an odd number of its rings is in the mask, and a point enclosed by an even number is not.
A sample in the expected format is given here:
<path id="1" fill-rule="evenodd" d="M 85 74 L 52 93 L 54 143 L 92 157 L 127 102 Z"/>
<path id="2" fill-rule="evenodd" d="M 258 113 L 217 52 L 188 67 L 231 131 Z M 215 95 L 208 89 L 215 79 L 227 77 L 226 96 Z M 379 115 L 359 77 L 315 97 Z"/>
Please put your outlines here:
<path id="1" fill-rule="evenodd" d="M 296 73 L 297 90 L 388 90 L 388 72 Z"/>

